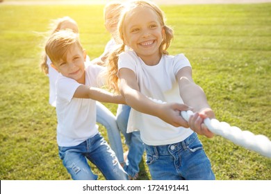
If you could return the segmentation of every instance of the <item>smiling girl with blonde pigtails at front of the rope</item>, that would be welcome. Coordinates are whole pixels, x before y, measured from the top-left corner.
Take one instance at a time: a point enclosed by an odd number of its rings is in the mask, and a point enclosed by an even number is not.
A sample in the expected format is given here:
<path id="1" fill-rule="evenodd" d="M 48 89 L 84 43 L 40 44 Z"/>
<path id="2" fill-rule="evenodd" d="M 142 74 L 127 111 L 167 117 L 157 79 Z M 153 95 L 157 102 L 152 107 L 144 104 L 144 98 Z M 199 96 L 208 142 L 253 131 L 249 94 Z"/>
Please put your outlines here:
<path id="1" fill-rule="evenodd" d="M 133 1 L 124 8 L 118 31 L 123 44 L 110 55 L 108 85 L 133 108 L 127 130 L 140 130 L 152 179 L 215 179 L 197 137 L 213 136 L 203 120 L 214 113 L 192 80 L 185 55 L 168 55 L 173 31 L 162 10 Z M 190 107 L 197 113 L 187 123 L 180 112 Z"/>

